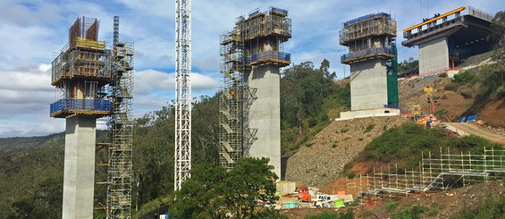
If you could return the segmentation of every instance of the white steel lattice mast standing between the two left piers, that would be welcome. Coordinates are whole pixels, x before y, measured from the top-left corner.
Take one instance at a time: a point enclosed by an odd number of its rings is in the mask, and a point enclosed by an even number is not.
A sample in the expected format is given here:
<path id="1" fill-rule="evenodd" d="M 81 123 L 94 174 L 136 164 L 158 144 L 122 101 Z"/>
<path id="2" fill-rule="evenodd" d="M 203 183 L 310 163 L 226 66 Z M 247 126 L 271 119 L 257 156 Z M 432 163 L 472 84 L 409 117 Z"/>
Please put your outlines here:
<path id="1" fill-rule="evenodd" d="M 175 1 L 175 164 L 174 190 L 191 169 L 191 0 Z"/>

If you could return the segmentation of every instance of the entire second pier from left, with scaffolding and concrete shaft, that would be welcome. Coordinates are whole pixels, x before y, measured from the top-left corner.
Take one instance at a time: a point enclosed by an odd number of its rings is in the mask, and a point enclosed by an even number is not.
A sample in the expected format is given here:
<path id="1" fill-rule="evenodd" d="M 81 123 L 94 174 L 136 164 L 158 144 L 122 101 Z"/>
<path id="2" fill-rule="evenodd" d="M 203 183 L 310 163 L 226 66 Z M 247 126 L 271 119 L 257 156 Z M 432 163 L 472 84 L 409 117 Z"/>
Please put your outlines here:
<path id="1" fill-rule="evenodd" d="M 282 43 L 291 38 L 288 11 L 270 7 L 240 16 L 220 42 L 220 164 L 266 157 L 281 177 L 280 70 L 290 64 Z"/>

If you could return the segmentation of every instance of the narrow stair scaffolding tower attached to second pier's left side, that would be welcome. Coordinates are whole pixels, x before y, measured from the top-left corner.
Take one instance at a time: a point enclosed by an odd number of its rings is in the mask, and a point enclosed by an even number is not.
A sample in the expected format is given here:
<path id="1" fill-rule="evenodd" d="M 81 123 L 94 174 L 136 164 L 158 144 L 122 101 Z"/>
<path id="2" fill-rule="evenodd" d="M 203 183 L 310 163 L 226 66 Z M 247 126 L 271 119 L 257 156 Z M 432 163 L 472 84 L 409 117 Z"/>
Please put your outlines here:
<path id="1" fill-rule="evenodd" d="M 244 18 L 220 37 L 219 163 L 231 169 L 244 153 Z"/>

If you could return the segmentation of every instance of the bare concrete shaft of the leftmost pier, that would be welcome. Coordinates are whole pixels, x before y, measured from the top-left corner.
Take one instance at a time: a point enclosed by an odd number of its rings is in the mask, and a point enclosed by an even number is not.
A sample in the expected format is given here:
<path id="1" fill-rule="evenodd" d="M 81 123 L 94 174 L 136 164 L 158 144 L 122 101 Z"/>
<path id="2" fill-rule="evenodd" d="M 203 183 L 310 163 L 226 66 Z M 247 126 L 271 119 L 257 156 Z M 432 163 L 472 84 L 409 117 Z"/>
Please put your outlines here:
<path id="1" fill-rule="evenodd" d="M 93 218 L 96 126 L 94 115 L 66 119 L 63 218 Z"/>

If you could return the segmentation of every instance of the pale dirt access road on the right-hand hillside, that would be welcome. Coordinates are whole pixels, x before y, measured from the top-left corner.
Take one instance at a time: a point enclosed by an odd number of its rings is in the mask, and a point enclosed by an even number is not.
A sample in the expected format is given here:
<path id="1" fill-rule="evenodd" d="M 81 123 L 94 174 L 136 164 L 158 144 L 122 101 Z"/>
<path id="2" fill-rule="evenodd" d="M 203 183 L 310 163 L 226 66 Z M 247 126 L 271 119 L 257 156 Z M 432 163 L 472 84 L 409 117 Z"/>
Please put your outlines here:
<path id="1" fill-rule="evenodd" d="M 485 127 L 478 127 L 473 122 L 443 122 L 447 125 L 447 129 L 450 131 L 458 132 L 460 136 L 464 135 L 476 135 L 483 137 L 484 139 L 489 139 L 492 142 L 501 143 L 505 145 L 505 137 L 494 133 L 492 130 L 488 130 Z"/>

